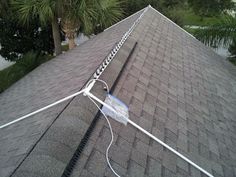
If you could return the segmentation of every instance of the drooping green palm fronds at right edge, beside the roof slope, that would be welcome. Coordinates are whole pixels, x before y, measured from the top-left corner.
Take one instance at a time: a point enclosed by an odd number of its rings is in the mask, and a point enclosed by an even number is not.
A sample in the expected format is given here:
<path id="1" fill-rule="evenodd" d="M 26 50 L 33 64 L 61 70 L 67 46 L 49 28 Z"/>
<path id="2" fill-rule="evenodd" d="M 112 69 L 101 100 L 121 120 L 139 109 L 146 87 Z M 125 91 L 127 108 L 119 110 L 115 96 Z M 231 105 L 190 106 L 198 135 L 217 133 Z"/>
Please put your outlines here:
<path id="1" fill-rule="evenodd" d="M 236 18 L 227 16 L 214 25 L 197 29 L 195 36 L 206 45 L 228 46 L 236 37 Z"/>

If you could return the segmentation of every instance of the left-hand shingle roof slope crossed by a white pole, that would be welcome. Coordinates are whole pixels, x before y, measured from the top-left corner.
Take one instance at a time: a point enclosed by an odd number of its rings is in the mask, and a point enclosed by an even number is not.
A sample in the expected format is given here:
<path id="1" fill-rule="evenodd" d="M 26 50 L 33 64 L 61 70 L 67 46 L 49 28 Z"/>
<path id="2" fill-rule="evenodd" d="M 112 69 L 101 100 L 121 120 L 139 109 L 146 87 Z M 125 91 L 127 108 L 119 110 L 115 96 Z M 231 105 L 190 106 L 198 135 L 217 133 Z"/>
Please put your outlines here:
<path id="1" fill-rule="evenodd" d="M 0 125 L 81 89 L 139 14 L 42 64 L 0 94 Z M 69 102 L 0 131 L 1 177 L 19 166 Z"/>

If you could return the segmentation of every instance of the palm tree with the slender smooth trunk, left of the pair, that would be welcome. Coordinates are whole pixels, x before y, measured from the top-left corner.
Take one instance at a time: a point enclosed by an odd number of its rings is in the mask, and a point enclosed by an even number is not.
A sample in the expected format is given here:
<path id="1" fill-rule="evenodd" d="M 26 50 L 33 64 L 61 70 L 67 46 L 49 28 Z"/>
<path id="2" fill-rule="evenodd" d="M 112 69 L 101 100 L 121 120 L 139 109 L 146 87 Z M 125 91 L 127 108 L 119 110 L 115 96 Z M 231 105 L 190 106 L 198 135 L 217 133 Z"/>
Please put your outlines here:
<path id="1" fill-rule="evenodd" d="M 39 19 L 42 25 L 51 23 L 55 54 L 61 54 L 57 0 L 12 0 L 11 2 L 23 24 L 29 24 L 35 19 Z"/>

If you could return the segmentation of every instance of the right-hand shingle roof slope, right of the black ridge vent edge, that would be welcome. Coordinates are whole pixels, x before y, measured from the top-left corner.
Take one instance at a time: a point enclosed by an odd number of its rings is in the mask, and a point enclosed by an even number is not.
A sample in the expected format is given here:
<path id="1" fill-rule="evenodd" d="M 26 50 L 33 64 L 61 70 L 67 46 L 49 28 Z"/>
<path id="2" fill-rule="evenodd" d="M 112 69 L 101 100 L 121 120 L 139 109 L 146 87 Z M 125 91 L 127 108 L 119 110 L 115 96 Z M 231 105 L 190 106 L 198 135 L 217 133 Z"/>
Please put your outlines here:
<path id="1" fill-rule="evenodd" d="M 234 66 L 152 8 L 130 39 L 137 47 L 114 90 L 130 118 L 214 176 L 236 176 Z M 204 176 L 131 125 L 111 123 L 110 158 L 121 176 Z M 114 176 L 109 141 L 101 117 L 72 176 Z"/>

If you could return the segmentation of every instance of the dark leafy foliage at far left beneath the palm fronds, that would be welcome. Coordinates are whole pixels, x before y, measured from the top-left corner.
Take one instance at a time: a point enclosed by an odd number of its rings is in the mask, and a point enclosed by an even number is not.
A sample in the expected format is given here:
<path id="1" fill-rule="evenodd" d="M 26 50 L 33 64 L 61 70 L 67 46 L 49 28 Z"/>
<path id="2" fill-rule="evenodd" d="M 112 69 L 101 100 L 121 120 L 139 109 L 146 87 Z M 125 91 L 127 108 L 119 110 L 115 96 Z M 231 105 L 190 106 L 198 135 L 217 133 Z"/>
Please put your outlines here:
<path id="1" fill-rule="evenodd" d="M 2 8 L 4 11 L 0 13 L 0 55 L 6 60 L 15 61 L 30 50 L 53 52 L 50 27 L 40 27 L 37 17 L 28 26 L 23 26 L 18 23 L 8 1 L 1 1 L 0 9 Z"/>

